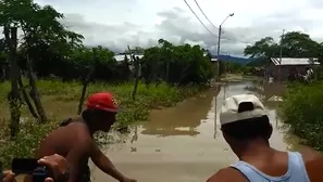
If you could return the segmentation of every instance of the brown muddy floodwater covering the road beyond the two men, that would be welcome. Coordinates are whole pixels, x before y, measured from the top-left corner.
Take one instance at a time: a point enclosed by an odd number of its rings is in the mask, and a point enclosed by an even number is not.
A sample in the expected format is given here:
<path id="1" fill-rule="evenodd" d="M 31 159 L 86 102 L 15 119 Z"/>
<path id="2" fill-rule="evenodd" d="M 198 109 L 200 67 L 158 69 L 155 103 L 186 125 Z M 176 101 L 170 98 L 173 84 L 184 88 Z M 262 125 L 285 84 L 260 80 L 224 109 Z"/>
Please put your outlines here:
<path id="1" fill-rule="evenodd" d="M 138 125 L 129 140 L 109 146 L 107 154 L 121 171 L 138 182 L 206 181 L 237 160 L 219 129 L 219 110 L 225 98 L 240 93 L 262 98 L 274 126 L 271 144 L 293 150 L 297 140 L 283 131 L 276 116 L 278 103 L 269 101 L 282 90 L 277 84 L 254 81 L 227 82 L 219 94 L 211 90 L 176 107 L 153 110 L 150 121 Z M 95 182 L 114 181 L 92 165 L 91 171 Z"/>

